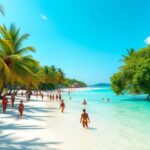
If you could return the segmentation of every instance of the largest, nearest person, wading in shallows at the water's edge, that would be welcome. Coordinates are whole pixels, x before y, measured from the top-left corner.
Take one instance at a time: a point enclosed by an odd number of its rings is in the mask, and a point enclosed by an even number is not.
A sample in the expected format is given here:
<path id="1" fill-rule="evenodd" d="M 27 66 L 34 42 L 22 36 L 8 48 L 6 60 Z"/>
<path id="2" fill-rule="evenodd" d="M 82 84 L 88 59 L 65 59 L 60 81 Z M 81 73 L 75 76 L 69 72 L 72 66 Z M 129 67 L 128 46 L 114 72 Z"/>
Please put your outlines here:
<path id="1" fill-rule="evenodd" d="M 83 109 L 83 113 L 81 114 L 80 123 L 82 123 L 83 127 L 88 127 L 88 122 L 90 123 L 90 119 L 86 110 Z"/>

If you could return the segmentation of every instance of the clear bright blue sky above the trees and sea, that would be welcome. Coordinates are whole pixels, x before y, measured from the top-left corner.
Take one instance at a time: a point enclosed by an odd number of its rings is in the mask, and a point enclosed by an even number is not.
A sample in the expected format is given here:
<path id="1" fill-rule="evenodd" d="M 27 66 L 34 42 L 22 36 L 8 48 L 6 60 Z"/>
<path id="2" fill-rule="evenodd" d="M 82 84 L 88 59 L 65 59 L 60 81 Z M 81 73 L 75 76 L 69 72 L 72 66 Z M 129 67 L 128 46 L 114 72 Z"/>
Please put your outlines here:
<path id="1" fill-rule="evenodd" d="M 30 33 L 41 65 L 88 84 L 110 82 L 128 48 L 150 42 L 149 0 L 0 0 L 5 16 Z"/>

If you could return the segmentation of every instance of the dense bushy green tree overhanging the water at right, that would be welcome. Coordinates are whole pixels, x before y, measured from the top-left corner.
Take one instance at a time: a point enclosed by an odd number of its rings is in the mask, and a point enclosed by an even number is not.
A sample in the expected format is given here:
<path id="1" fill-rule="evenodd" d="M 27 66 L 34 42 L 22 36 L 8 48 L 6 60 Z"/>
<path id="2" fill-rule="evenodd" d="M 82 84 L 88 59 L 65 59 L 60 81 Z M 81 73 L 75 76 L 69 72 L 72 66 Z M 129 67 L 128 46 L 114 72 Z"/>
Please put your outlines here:
<path id="1" fill-rule="evenodd" d="M 148 94 L 150 98 L 150 47 L 128 50 L 123 65 L 111 77 L 112 90 L 117 94 Z"/>

